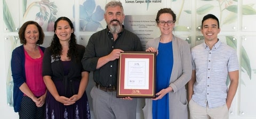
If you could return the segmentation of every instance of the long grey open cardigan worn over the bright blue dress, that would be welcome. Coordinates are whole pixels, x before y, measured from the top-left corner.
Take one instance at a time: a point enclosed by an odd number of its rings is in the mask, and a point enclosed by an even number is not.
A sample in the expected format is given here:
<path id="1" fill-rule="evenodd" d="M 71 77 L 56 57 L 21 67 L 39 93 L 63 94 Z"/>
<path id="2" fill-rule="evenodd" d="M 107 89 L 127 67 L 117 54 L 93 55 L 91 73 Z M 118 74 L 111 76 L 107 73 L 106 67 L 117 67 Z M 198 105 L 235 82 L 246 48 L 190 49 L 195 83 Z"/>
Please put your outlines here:
<path id="1" fill-rule="evenodd" d="M 148 47 L 154 47 L 158 49 L 159 41 L 161 37 L 148 41 L 146 49 Z M 172 38 L 173 47 L 173 68 L 170 78 L 169 86 L 173 91 L 169 92 L 169 111 L 170 119 L 172 118 L 188 118 L 187 109 L 187 90 L 185 85 L 191 78 L 192 64 L 190 46 L 187 41 L 178 37 Z M 157 92 L 156 92 L 157 93 Z M 152 118 L 152 100 L 145 99 L 145 107 L 143 107 L 143 113 L 145 118 Z"/>

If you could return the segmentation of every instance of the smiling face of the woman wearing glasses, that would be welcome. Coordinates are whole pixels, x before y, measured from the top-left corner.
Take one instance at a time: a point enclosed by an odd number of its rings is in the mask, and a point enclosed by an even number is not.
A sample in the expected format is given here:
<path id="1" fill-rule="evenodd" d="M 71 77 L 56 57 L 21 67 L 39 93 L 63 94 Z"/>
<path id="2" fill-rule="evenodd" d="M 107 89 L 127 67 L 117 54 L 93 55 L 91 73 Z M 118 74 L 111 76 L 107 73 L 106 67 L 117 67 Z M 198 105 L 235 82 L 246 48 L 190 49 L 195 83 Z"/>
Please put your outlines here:
<path id="1" fill-rule="evenodd" d="M 170 13 L 162 13 L 161 15 L 159 15 L 159 22 L 173 22 L 173 17 Z M 172 34 L 172 29 L 175 26 L 174 23 L 170 25 L 168 25 L 167 23 L 164 23 L 164 25 L 161 25 L 159 22 L 157 23 L 157 26 L 161 31 L 161 35 Z"/>

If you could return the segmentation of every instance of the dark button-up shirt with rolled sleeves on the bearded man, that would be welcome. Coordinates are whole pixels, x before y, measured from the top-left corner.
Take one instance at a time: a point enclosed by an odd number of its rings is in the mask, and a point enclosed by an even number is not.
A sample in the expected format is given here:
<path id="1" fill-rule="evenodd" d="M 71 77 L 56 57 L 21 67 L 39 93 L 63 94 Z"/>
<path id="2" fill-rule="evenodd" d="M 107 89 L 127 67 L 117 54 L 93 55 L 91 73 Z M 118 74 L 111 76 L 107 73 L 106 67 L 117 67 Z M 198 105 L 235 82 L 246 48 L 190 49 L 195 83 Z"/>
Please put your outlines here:
<path id="1" fill-rule="evenodd" d="M 82 64 L 86 71 L 93 71 L 94 82 L 103 87 L 115 87 L 117 83 L 118 59 L 96 69 L 99 58 L 110 54 L 113 49 L 142 51 L 142 45 L 139 37 L 124 26 L 115 41 L 108 28 L 93 33 L 85 48 Z"/>

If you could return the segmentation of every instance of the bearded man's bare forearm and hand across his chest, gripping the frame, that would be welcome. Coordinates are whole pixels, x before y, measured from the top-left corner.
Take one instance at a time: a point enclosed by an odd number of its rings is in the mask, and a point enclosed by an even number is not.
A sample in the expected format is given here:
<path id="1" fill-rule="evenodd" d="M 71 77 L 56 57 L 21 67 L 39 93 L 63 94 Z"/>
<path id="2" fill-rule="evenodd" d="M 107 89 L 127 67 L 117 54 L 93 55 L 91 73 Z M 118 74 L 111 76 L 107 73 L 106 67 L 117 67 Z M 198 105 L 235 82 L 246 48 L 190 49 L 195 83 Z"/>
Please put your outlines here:
<path id="1" fill-rule="evenodd" d="M 100 57 L 97 63 L 96 69 L 99 69 L 101 66 L 107 64 L 109 61 L 114 61 L 120 57 L 120 54 L 124 51 L 121 49 L 114 49 L 110 54 Z"/>

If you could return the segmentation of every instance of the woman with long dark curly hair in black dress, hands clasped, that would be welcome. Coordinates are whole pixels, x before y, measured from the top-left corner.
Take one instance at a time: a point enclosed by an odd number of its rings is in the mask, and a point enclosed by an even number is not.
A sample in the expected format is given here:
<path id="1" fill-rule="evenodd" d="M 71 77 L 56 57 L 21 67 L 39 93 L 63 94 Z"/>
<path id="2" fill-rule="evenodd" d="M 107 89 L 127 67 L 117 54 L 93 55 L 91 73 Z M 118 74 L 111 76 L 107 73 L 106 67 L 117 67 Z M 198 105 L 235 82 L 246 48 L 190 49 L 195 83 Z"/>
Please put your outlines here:
<path id="1" fill-rule="evenodd" d="M 84 51 L 85 47 L 76 43 L 72 22 L 66 17 L 57 19 L 43 58 L 43 77 L 49 90 L 46 118 L 90 118 L 85 91 L 89 72 L 81 63 Z"/>

